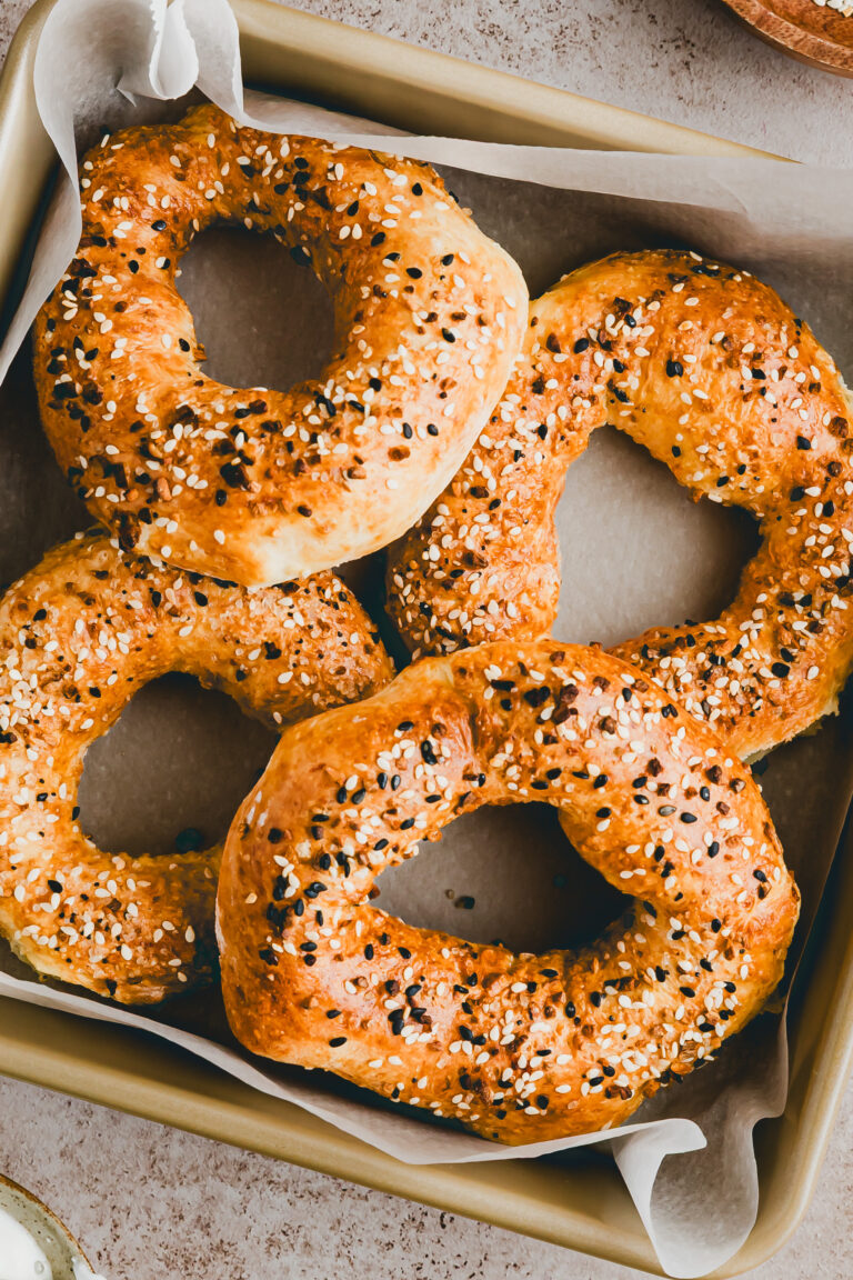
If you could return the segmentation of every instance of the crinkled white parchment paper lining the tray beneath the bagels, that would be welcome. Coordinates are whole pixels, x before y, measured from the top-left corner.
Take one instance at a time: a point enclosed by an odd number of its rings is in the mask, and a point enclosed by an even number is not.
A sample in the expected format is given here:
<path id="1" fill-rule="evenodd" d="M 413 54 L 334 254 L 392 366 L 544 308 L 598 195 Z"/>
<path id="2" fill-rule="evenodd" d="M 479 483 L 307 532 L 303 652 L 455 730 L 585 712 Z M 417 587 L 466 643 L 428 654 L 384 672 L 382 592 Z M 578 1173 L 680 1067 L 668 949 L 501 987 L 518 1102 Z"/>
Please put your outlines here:
<path id="1" fill-rule="evenodd" d="M 247 123 L 318 133 L 436 163 L 478 223 L 522 264 L 531 294 L 616 248 L 689 244 L 737 261 L 781 291 L 841 370 L 853 370 L 849 287 L 853 173 L 774 161 L 510 147 L 404 137 L 384 125 L 254 93 L 243 97 L 237 28 L 225 0 L 61 0 L 36 63 L 40 111 L 64 172 L 29 283 L 0 351 L 0 579 L 28 568 L 87 524 L 38 428 L 27 361 L 13 358 L 73 256 L 79 234 L 77 147 L 105 127 L 174 116 L 191 91 Z M 460 120 L 460 132 L 464 120 Z M 183 264 L 208 370 L 239 385 L 286 387 L 322 365 L 330 311 L 318 285 L 271 241 L 206 233 Z M 292 297 L 301 303 L 293 306 Z M 12 369 L 10 369 L 12 366 Z M 10 370 L 10 371 L 9 371 Z M 8 375 L 8 376 L 6 376 Z M 559 508 L 563 591 L 555 634 L 604 644 L 652 625 L 710 617 L 756 544 L 737 512 L 694 506 L 632 442 L 604 429 L 572 468 Z M 381 566 L 348 568 L 381 609 Z M 211 842 L 262 768 L 270 737 L 226 699 L 170 677 L 139 694 L 90 753 L 82 820 L 104 847 L 166 851 L 198 826 Z M 853 782 L 848 721 L 772 754 L 762 781 L 803 892 L 804 941 Z M 524 876 L 519 887 L 519 863 Z M 510 888 L 512 886 L 512 888 Z M 417 924 L 514 947 L 574 945 L 619 911 L 619 895 L 568 847 L 545 806 L 460 819 L 439 846 L 380 881 L 380 904 Z M 400 1111 L 334 1076 L 274 1069 L 230 1039 L 216 993 L 146 1015 L 32 979 L 0 952 L 0 995 L 162 1036 L 409 1164 L 549 1156 L 601 1140 L 505 1149 Z M 776 1001 L 779 1009 L 780 1001 Z M 96 1034 L 96 1032 L 93 1032 Z M 752 1129 L 786 1089 L 784 1019 L 758 1019 L 717 1062 L 662 1091 L 637 1123 L 607 1135 L 662 1267 L 698 1276 L 721 1265 L 755 1221 Z"/>

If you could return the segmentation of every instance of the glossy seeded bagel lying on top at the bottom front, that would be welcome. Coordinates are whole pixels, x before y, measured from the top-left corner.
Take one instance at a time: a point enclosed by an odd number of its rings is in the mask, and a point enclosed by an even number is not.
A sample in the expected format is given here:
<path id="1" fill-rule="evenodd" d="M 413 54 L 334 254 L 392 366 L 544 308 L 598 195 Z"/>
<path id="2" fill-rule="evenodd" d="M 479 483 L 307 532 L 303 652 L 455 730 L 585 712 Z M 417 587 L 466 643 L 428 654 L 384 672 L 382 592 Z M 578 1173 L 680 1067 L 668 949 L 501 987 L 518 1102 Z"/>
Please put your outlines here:
<path id="1" fill-rule="evenodd" d="M 634 896 L 597 942 L 514 955 L 371 905 L 419 840 L 531 800 Z M 217 933 L 253 1053 L 519 1143 L 616 1125 L 707 1059 L 776 986 L 797 913 L 707 726 L 601 650 L 497 641 L 283 733 L 225 842 Z"/>

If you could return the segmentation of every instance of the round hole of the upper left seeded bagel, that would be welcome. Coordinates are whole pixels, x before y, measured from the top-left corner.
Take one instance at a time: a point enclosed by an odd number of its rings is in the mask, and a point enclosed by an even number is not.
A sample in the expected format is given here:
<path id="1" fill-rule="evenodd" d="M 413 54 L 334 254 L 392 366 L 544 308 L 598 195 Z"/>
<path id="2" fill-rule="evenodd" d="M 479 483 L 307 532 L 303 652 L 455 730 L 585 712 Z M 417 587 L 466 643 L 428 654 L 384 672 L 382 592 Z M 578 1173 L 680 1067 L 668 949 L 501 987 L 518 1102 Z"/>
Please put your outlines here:
<path id="1" fill-rule="evenodd" d="M 239 227 L 202 232 L 180 261 L 178 291 L 206 352 L 205 372 L 228 387 L 288 390 L 329 361 L 329 296 L 272 236 Z"/>

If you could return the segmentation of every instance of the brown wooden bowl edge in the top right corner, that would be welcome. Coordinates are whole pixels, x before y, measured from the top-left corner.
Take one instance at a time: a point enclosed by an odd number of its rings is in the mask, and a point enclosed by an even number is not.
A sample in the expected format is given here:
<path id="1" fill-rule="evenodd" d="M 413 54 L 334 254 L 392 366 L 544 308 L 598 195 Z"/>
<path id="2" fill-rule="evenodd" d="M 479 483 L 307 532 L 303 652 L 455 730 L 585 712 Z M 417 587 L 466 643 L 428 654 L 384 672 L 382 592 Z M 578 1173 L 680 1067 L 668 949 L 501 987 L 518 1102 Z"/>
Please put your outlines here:
<path id="1" fill-rule="evenodd" d="M 723 3 L 775 49 L 835 76 L 853 76 L 853 0 L 843 0 L 849 17 L 815 0 Z"/>

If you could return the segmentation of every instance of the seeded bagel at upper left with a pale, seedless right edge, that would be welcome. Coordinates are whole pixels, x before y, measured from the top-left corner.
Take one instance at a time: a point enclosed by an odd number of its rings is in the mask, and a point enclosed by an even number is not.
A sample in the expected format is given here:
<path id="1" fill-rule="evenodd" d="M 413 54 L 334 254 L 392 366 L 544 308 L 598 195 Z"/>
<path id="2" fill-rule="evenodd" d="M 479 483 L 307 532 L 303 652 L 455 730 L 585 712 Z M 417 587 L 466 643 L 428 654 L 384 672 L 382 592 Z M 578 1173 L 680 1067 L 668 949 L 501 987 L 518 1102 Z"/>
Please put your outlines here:
<path id="1" fill-rule="evenodd" d="M 81 170 L 83 236 L 35 328 L 42 421 L 125 550 L 244 586 L 400 536 L 503 392 L 527 289 L 427 165 L 240 128 L 215 106 L 104 141 Z M 320 378 L 234 389 L 175 287 L 215 221 L 271 232 L 335 311 Z"/>

